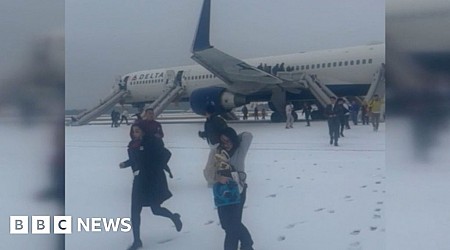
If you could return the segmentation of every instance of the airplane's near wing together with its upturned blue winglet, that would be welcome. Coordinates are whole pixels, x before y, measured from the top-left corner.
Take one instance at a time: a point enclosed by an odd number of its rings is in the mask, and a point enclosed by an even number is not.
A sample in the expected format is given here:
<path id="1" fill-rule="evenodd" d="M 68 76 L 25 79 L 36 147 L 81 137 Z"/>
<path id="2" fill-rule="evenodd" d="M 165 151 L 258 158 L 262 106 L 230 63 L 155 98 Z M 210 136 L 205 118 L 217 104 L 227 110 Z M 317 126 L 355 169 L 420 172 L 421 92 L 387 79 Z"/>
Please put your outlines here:
<path id="1" fill-rule="evenodd" d="M 211 0 L 203 2 L 202 12 L 192 46 L 192 59 L 239 92 L 254 92 L 274 87 L 283 80 L 210 45 Z"/>

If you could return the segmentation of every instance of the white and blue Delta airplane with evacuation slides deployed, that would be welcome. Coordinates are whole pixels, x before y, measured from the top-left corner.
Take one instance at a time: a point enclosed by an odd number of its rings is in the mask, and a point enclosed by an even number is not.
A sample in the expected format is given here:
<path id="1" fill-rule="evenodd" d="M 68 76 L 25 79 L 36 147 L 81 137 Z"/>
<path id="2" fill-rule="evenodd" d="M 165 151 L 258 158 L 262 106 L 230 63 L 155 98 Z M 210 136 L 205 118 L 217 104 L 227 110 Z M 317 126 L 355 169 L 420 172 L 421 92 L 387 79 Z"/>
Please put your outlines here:
<path id="1" fill-rule="evenodd" d="M 268 102 L 271 120 L 281 122 L 289 101 L 298 110 L 305 101 L 319 99 L 323 106 L 330 96 L 366 96 L 384 67 L 384 43 L 240 60 L 210 44 L 210 12 L 205 0 L 191 49 L 199 65 L 125 74 L 118 84 L 121 104 L 142 110 L 151 103 L 160 113 L 170 102 L 189 101 L 196 114 L 213 104 L 226 117 L 233 108 Z"/>

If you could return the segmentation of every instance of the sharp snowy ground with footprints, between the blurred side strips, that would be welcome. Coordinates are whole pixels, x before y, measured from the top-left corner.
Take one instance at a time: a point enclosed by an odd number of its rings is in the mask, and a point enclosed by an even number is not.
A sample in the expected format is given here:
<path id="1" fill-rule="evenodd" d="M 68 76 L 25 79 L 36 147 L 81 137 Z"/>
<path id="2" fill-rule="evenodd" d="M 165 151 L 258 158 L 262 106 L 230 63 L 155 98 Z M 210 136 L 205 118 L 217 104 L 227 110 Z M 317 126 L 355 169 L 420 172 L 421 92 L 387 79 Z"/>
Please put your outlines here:
<path id="1" fill-rule="evenodd" d="M 325 121 L 284 124 L 234 123 L 254 139 L 247 160 L 249 185 L 243 221 L 255 249 L 386 248 L 385 124 L 344 131 L 339 147 L 329 144 Z M 202 170 L 209 148 L 197 136 L 203 123 L 163 124 L 172 152 L 173 197 L 163 206 L 181 214 L 183 229 L 142 212 L 142 249 L 219 250 L 219 225 L 212 190 Z M 66 127 L 66 215 L 129 217 L 132 173 L 119 169 L 127 157 L 129 126 Z M 76 228 L 76 227 L 75 227 Z M 66 249 L 126 249 L 132 233 L 73 232 Z"/>

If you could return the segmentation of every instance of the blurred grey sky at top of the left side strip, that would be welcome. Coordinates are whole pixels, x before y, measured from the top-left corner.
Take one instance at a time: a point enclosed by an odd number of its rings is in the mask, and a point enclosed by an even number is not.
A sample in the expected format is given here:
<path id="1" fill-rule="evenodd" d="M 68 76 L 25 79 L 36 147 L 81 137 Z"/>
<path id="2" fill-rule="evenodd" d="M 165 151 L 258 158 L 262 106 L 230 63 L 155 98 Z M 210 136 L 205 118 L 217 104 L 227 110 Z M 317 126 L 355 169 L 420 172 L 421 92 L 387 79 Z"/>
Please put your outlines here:
<path id="1" fill-rule="evenodd" d="M 36 42 L 64 32 L 63 0 L 0 1 L 0 78 L 26 64 Z"/>

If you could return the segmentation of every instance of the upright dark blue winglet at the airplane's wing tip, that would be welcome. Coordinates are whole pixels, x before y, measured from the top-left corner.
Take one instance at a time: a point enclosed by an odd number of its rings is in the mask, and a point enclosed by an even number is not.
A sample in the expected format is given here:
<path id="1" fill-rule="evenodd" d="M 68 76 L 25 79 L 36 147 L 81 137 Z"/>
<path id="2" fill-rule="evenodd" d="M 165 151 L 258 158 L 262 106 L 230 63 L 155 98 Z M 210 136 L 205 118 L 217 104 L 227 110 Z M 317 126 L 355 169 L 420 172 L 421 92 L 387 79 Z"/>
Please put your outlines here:
<path id="1" fill-rule="evenodd" d="M 209 23 L 211 13 L 211 0 L 203 2 L 202 12 L 198 21 L 197 32 L 192 44 L 192 53 L 212 48 L 209 44 Z"/>

